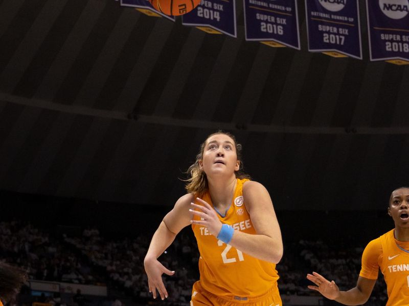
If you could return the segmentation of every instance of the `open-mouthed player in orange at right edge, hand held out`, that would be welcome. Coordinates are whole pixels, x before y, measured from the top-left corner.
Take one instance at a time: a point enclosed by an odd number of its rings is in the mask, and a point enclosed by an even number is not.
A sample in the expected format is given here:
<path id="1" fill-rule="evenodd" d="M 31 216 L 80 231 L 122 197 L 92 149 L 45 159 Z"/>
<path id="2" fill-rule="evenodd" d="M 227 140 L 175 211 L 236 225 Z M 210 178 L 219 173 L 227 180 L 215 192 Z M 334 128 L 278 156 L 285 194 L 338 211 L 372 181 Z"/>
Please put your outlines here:
<path id="1" fill-rule="evenodd" d="M 307 275 L 316 285 L 308 288 L 345 305 L 361 305 L 371 295 L 380 269 L 388 289 L 387 306 L 409 305 L 409 187 L 392 192 L 388 214 L 395 228 L 367 245 L 355 288 L 339 291 L 334 281 L 329 282 L 316 272 Z"/>

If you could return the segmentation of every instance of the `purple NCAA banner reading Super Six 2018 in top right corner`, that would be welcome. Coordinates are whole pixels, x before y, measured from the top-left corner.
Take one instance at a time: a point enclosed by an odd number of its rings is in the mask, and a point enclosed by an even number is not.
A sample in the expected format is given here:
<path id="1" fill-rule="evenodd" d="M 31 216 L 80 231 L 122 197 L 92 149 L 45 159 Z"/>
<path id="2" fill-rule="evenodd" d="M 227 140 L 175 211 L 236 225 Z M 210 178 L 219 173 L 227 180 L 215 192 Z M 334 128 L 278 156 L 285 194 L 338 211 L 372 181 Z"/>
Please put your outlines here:
<path id="1" fill-rule="evenodd" d="M 408 0 L 367 0 L 371 61 L 409 64 L 408 13 Z"/>

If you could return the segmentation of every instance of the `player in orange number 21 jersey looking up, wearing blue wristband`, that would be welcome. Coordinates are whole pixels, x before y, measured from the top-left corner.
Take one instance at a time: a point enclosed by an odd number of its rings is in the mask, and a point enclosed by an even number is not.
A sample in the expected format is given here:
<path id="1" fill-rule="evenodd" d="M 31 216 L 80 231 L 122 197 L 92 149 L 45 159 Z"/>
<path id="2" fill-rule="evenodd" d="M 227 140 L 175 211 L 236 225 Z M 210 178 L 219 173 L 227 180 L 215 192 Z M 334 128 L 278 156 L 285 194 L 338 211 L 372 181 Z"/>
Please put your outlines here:
<path id="1" fill-rule="evenodd" d="M 200 280 L 191 306 L 281 306 L 276 264 L 283 254 L 280 227 L 267 190 L 250 181 L 233 135 L 217 132 L 201 144 L 190 166 L 187 194 L 180 197 L 153 235 L 145 257 L 149 291 L 168 293 L 157 258 L 191 224 L 200 252 Z"/>

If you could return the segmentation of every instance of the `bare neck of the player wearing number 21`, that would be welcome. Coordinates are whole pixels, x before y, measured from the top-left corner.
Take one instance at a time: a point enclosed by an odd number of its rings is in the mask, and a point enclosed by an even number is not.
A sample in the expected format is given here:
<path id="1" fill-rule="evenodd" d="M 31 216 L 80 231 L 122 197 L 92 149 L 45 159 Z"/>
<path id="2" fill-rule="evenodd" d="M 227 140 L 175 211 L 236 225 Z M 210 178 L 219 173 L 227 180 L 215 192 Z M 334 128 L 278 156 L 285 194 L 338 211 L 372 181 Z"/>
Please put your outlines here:
<path id="1" fill-rule="evenodd" d="M 236 176 L 230 180 L 209 180 L 208 183 L 213 206 L 216 208 L 230 206 L 236 189 Z"/>

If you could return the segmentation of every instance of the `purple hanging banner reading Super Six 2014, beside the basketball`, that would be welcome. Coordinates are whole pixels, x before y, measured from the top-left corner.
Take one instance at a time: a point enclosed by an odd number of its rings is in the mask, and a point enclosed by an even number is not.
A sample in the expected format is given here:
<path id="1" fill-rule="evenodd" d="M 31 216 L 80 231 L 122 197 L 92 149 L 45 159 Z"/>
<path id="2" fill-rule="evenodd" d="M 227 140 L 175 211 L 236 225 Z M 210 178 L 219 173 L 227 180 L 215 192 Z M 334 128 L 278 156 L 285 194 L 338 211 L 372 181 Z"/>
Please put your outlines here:
<path id="1" fill-rule="evenodd" d="M 201 0 L 193 11 L 182 16 L 182 24 L 193 25 L 210 34 L 237 37 L 236 1 Z"/>

